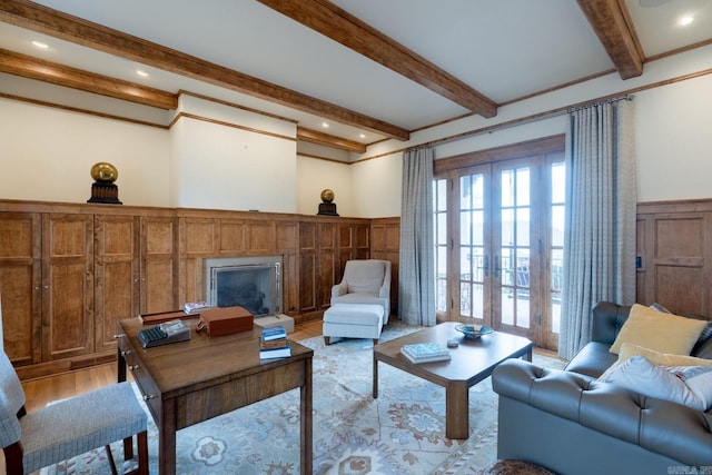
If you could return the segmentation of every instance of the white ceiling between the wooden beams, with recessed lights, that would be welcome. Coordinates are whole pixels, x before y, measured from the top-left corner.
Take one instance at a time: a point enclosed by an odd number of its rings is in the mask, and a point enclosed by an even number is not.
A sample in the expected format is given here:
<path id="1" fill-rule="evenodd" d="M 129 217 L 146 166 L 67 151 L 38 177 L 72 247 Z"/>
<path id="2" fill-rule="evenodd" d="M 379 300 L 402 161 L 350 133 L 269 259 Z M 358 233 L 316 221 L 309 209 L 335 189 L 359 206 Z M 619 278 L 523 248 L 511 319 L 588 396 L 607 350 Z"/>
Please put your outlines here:
<path id="1" fill-rule="evenodd" d="M 502 105 L 614 63 L 573 0 L 334 0 L 406 48 Z M 712 39 L 710 0 L 625 0 L 645 58 Z M 254 0 L 41 0 L 333 105 L 415 130 L 469 111 Z M 655 4 L 642 7 L 642 4 Z M 660 3 L 660 4 L 659 4 Z M 676 24 L 692 13 L 688 28 Z M 50 44 L 38 50 L 30 41 Z M 0 48 L 161 90 L 188 90 L 372 144 L 383 136 L 0 22 Z M 643 72 L 644 75 L 645 72 Z"/>

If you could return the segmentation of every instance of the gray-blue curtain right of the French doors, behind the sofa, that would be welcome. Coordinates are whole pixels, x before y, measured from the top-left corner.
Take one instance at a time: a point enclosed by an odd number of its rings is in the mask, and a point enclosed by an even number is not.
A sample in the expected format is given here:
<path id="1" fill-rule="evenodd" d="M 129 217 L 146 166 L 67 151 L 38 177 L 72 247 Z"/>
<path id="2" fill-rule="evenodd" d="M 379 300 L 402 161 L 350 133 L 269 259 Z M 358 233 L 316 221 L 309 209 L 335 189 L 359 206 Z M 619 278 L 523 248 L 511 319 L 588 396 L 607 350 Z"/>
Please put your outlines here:
<path id="1" fill-rule="evenodd" d="M 635 301 L 633 102 L 616 99 L 570 115 L 558 342 L 564 358 L 590 340 L 597 301 Z"/>

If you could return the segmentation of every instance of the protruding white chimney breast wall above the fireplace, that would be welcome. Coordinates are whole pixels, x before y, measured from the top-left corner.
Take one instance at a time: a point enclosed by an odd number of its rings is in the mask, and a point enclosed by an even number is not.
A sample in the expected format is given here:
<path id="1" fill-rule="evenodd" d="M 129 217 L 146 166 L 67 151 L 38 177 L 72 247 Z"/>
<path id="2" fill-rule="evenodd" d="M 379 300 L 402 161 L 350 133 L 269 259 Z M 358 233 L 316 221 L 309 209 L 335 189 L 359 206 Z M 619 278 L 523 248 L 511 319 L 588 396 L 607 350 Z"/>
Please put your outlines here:
<path id="1" fill-rule="evenodd" d="M 172 206 L 296 212 L 296 126 L 181 97 L 171 128 Z"/>

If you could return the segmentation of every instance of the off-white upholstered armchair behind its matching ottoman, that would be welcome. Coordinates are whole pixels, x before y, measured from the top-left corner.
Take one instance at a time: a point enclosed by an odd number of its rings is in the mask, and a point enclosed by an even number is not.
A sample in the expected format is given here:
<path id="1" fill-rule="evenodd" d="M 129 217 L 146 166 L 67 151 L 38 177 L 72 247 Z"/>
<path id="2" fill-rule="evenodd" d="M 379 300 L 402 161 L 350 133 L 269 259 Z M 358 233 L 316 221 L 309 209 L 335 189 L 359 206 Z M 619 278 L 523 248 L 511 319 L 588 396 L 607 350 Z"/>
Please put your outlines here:
<path id="1" fill-rule="evenodd" d="M 344 278 L 332 288 L 332 305 L 370 304 L 383 307 L 383 324 L 390 315 L 390 261 L 347 260 Z"/>

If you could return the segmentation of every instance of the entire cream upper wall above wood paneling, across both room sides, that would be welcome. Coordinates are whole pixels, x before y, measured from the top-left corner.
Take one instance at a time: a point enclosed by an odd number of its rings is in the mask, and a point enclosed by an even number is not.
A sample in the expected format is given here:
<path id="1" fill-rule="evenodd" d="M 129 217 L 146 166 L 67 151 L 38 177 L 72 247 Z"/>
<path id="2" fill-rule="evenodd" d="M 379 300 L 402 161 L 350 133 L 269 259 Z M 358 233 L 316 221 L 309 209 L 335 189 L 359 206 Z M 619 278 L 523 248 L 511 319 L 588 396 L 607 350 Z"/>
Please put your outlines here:
<path id="1" fill-rule="evenodd" d="M 320 191 L 332 188 L 342 216 L 399 216 L 403 149 L 665 82 L 670 83 L 634 95 L 639 200 L 710 198 L 712 75 L 692 78 L 710 70 L 712 46 L 698 48 L 646 63 L 643 78 L 623 81 L 610 75 L 502 107 L 493 119 L 473 116 L 413 133 L 407 142 L 377 144 L 354 165 L 297 155 L 296 141 L 281 138 L 296 137 L 293 122 L 197 98 L 187 102 L 181 98 L 181 107 L 245 127 L 181 118 L 167 131 L 0 98 L 0 198 L 85 202 L 90 197 L 91 166 L 109 161 L 119 169 L 119 198 L 127 205 L 313 215 Z M 682 78 L 692 79 L 675 81 Z M 22 81 L 0 81 L 0 91 L 19 95 Z M 31 86 L 38 88 L 36 82 Z M 277 137 L 247 130 L 250 128 Z M 566 116 L 560 115 L 439 144 L 435 157 L 565 133 L 566 129 Z"/>

